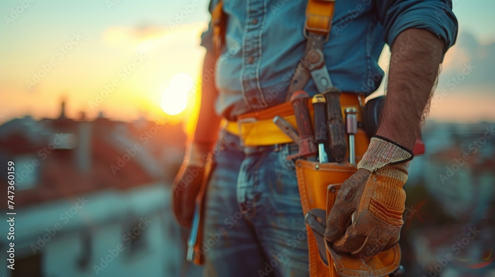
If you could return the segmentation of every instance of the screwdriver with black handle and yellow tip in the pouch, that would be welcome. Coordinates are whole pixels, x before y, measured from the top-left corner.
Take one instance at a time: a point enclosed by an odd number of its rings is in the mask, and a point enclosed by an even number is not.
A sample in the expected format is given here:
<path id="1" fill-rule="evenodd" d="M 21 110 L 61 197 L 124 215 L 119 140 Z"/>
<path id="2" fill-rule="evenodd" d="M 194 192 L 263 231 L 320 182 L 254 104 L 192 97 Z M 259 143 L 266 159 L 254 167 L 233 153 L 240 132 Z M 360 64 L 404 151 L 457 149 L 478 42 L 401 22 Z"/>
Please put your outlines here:
<path id="1" fill-rule="evenodd" d="M 318 160 L 320 163 L 326 163 L 328 162 L 327 152 L 325 151 L 325 144 L 328 143 L 327 119 L 325 118 L 327 100 L 323 94 L 315 94 L 311 99 L 311 103 L 314 107 L 314 132 L 315 142 L 318 143 Z"/>

